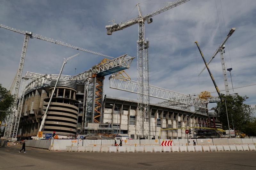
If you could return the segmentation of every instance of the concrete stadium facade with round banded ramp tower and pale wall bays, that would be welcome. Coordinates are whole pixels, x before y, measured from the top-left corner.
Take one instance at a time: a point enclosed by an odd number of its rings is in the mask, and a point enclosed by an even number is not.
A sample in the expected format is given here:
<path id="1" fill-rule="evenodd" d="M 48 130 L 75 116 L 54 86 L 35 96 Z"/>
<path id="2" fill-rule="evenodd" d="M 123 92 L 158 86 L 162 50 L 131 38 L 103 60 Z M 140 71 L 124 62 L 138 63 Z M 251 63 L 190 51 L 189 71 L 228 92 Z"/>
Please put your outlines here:
<path id="1" fill-rule="evenodd" d="M 53 80 L 49 85 L 40 85 L 26 92 L 23 100 L 23 110 L 20 119 L 18 137 L 29 138 L 37 135 L 41 117 L 47 107 L 49 96 L 55 85 Z M 138 138 L 137 101 L 103 96 L 102 118 L 100 123 L 92 122 L 83 107 L 84 81 L 61 80 L 54 93 L 43 134 L 53 131 L 62 137 L 74 137 L 76 134 L 119 134 L 132 139 Z M 87 110 L 88 112 L 88 110 Z M 190 127 L 208 127 L 207 113 L 196 113 L 190 120 L 189 115 L 194 112 L 176 106 L 150 105 L 150 138 L 157 139 L 160 129 Z M 192 129 L 191 137 L 197 136 L 198 129 Z M 186 138 L 185 129 L 164 130 L 161 138 L 183 139 Z"/>

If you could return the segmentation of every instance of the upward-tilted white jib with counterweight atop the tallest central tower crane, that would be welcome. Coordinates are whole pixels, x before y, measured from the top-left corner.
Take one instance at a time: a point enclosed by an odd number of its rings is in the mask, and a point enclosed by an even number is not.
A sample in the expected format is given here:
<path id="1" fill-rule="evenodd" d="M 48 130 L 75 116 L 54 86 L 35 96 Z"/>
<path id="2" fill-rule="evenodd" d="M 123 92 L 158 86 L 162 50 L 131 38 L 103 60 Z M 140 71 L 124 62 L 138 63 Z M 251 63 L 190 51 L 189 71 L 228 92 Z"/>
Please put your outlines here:
<path id="1" fill-rule="evenodd" d="M 120 31 L 120 30 L 123 30 L 124 28 L 127 28 L 129 26 L 138 24 L 138 21 L 139 21 L 139 19 L 141 17 L 143 18 L 144 21 L 146 21 L 149 18 L 151 18 L 151 17 L 153 17 L 153 16 L 155 16 L 157 14 L 160 14 L 160 13 L 162 13 L 164 11 L 167 11 L 167 10 L 169 10 L 171 8 L 174 8 L 174 7 L 176 7 L 176 6 L 180 5 L 180 4 L 183 4 L 183 3 L 188 2 L 188 1 L 189 0 L 178 0 L 178 1 L 175 1 L 175 2 L 172 2 L 172 3 L 169 3 L 168 5 L 165 5 L 162 8 L 159 8 L 159 9 L 157 9 L 155 11 L 152 11 L 152 12 L 148 13 L 145 16 L 138 16 L 138 17 L 132 18 L 132 19 L 130 19 L 128 21 L 125 21 L 124 23 L 121 22 L 119 24 L 114 24 L 114 25 L 106 26 L 108 35 L 112 35 L 112 32 Z M 139 6 L 139 4 L 137 4 L 137 6 Z"/>

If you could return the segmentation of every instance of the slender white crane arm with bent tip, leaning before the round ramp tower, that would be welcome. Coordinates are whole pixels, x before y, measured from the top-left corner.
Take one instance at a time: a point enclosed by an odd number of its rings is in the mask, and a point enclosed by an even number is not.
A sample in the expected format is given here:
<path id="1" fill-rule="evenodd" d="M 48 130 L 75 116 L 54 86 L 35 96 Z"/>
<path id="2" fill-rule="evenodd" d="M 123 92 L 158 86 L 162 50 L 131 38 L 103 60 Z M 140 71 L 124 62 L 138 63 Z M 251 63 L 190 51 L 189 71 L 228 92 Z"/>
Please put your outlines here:
<path id="1" fill-rule="evenodd" d="M 45 112 L 44 112 L 44 116 L 43 116 L 41 125 L 40 125 L 40 127 L 39 127 L 39 129 L 38 129 L 38 132 L 42 131 L 42 129 L 43 129 L 44 122 L 45 122 L 45 118 L 46 118 L 46 116 L 47 116 L 48 109 L 49 109 L 50 104 L 51 104 L 51 102 L 52 102 L 52 97 L 53 97 L 53 95 L 54 95 L 55 89 L 56 89 L 57 84 L 58 84 L 58 82 L 59 82 L 59 80 L 60 80 L 60 76 L 61 76 L 61 73 L 62 73 L 62 70 L 63 70 L 64 65 L 67 63 L 68 60 L 70 60 L 71 58 L 73 58 L 73 57 L 75 57 L 75 56 L 77 56 L 77 55 L 79 55 L 79 53 L 76 54 L 76 55 L 72 55 L 72 56 L 70 56 L 70 57 L 68 57 L 68 58 L 64 58 L 64 62 L 63 62 L 62 66 L 61 66 L 61 69 L 60 69 L 60 74 L 59 74 L 59 76 L 58 76 L 58 78 L 57 78 L 57 80 L 56 80 L 55 86 L 54 86 L 53 91 L 52 91 L 52 95 L 51 95 L 51 97 L 50 97 L 50 100 L 49 100 L 48 105 L 47 105 L 47 107 L 46 107 L 46 110 L 45 110 Z"/>

